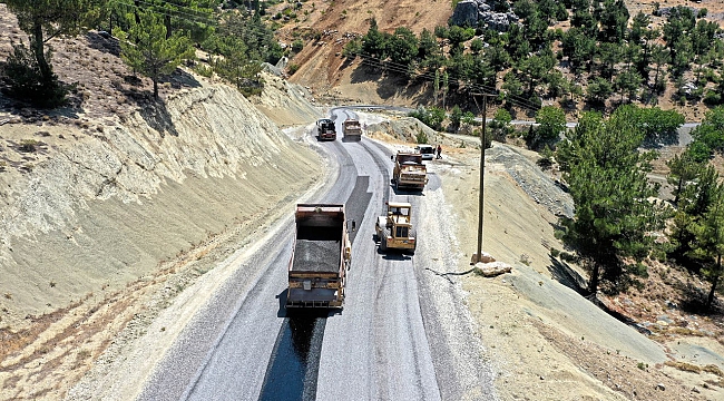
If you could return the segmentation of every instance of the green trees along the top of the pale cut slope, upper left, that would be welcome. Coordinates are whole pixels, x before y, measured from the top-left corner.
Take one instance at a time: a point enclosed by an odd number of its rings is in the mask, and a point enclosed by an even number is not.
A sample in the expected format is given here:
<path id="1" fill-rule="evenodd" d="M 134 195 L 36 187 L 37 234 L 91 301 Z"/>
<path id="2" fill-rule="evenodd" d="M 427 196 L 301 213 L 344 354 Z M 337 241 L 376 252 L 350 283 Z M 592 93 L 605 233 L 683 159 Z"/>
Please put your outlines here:
<path id="1" fill-rule="evenodd" d="M 29 37 L 29 45 L 13 43 L 2 69 L 7 92 L 38 107 L 62 106 L 75 90 L 52 70 L 50 40 L 84 35 L 88 29 L 117 38 L 121 59 L 135 74 L 153 80 L 156 98 L 159 81 L 182 63 L 203 76 L 215 74 L 246 96 L 260 94 L 262 62 L 276 63 L 285 55 L 270 23 L 262 20 L 266 3 L 260 1 L 244 6 L 221 0 L 6 3 Z M 197 50 L 208 55 L 204 63 L 195 61 Z"/>

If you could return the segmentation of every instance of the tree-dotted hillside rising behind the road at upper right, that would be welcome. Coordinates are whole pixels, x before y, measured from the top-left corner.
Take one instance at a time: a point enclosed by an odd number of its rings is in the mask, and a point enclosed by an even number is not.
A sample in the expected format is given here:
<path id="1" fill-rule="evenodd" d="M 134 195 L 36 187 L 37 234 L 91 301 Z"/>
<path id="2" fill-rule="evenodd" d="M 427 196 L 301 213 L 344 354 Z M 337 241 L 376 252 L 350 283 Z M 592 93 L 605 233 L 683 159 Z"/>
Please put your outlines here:
<path id="1" fill-rule="evenodd" d="M 425 94 L 420 100 L 433 106 L 462 106 L 471 94 L 489 92 L 510 109 L 530 111 L 545 102 L 570 111 L 570 118 L 584 109 L 637 102 L 681 107 L 689 119 L 701 120 L 706 108 L 722 102 L 722 7 L 668 3 L 637 4 L 634 12 L 623 0 L 453 1 L 449 11 L 434 2 L 420 8 L 451 18 L 427 27 L 394 26 L 372 11 L 362 20 L 356 16 L 350 27 L 346 10 L 331 7 L 315 19 L 302 3 L 292 21 L 309 19 L 312 29 L 291 21 L 284 27 L 314 46 L 292 59 L 290 72 L 300 69 L 302 76 L 293 76 L 300 82 L 306 84 L 304 65 L 314 60 L 312 55 L 331 47 L 348 63 L 330 65 L 330 74 L 339 77 L 352 68 L 360 82 L 364 75 L 356 70 L 366 70 L 372 80 L 380 78 L 373 71 L 381 71 Z M 466 14 L 471 7 L 476 11 Z M 314 30 L 330 19 L 359 30 Z M 358 58 L 365 62 L 350 63 Z"/>

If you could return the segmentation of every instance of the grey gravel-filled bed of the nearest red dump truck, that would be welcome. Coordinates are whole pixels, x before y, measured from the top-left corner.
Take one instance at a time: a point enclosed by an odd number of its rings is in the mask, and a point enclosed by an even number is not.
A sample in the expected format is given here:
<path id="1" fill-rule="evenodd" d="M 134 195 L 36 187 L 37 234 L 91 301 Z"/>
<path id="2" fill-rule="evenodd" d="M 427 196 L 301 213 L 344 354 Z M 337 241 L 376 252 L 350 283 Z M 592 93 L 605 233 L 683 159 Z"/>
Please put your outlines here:
<path id="1" fill-rule="evenodd" d="M 299 227 L 291 272 L 337 273 L 342 256 L 339 234 L 330 227 Z"/>

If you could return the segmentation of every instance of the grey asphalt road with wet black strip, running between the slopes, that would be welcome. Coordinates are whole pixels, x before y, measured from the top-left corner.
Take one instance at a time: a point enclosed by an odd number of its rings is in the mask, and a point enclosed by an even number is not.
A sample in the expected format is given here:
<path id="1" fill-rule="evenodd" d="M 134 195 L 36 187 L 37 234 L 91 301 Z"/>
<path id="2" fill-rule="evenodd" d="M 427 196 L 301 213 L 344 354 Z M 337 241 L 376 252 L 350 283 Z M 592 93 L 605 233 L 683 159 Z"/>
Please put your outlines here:
<path id="1" fill-rule="evenodd" d="M 333 114 L 337 133 L 354 116 L 349 109 Z M 186 327 L 139 399 L 495 399 L 492 374 L 481 361 L 459 291 L 439 273 L 456 263 L 444 255 L 451 234 L 441 231 L 442 242 L 430 234 L 436 241 L 427 243 L 419 234 L 412 257 L 381 254 L 373 239 L 374 219 L 387 200 L 410 202 L 413 211 L 440 205 L 427 204 L 424 194 L 394 193 L 385 147 L 341 137 L 319 144 L 339 175 L 312 202 L 344 203 L 348 219 L 356 223 L 344 310 L 285 313 L 290 217 L 278 241 L 261 244 Z M 437 176 L 429 187 L 440 188 Z M 434 198 L 430 202 L 441 202 Z M 415 218 L 422 225 L 428 217 Z M 428 226 L 441 224 L 431 223 L 434 218 L 441 216 L 430 217 Z"/>

